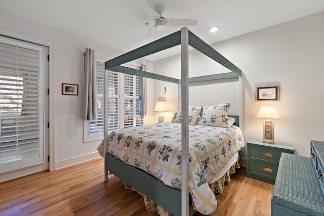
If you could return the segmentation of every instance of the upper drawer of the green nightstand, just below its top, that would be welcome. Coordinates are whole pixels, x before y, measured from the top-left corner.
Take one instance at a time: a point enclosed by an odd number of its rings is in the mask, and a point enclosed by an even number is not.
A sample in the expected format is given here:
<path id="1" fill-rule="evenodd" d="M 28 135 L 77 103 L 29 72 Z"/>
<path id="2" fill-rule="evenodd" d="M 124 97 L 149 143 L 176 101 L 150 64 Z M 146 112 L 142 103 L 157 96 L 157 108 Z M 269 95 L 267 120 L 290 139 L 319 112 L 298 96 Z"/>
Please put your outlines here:
<path id="1" fill-rule="evenodd" d="M 262 146 L 250 146 L 250 158 L 261 159 L 279 164 L 282 149 L 270 149 Z"/>

